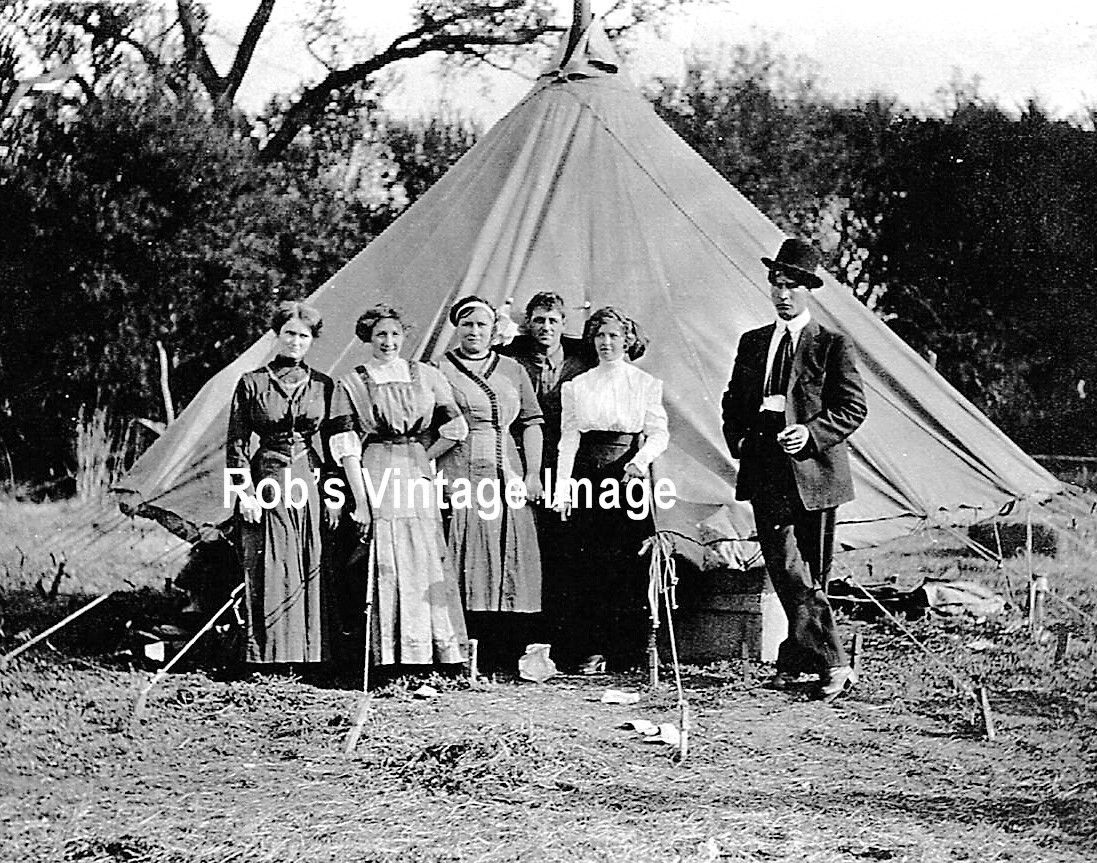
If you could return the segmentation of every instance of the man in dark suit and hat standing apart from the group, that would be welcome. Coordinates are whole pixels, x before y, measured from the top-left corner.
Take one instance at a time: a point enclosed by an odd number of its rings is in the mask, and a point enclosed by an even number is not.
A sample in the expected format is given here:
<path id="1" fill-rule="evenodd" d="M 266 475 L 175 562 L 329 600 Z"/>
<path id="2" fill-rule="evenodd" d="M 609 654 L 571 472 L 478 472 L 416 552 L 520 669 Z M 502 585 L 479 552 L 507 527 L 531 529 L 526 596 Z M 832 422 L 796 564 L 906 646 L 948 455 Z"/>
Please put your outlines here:
<path id="1" fill-rule="evenodd" d="M 773 589 L 789 620 L 774 689 L 818 673 L 830 701 L 857 678 L 839 640 L 826 582 L 835 512 L 853 498 L 846 439 L 867 412 L 853 348 L 812 319 L 819 257 L 788 239 L 769 270 L 777 322 L 745 332 L 723 399 L 724 439 L 739 459 L 737 500 L 749 500 Z"/>

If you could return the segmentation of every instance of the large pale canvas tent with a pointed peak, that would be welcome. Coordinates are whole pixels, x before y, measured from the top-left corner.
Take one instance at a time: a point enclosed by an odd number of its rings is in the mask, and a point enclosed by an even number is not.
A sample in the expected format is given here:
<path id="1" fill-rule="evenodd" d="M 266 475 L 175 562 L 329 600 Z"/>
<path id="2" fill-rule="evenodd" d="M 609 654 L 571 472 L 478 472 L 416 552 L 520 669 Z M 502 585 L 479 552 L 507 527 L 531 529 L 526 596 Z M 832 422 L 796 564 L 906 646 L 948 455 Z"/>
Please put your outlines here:
<path id="1" fill-rule="evenodd" d="M 410 353 L 451 344 L 445 318 L 478 294 L 513 314 L 539 291 L 614 305 L 652 337 L 644 368 L 665 382 L 670 448 L 656 464 L 677 488 L 657 527 L 699 541 L 744 538 L 736 465 L 720 402 L 739 336 L 772 319 L 766 270 L 781 231 L 689 148 L 618 70 L 592 25 L 438 183 L 309 298 L 324 316 L 309 362 L 332 375 L 365 356 L 354 321 L 397 302 Z M 852 438 L 857 500 L 838 541 L 874 545 L 920 526 L 992 515 L 1061 490 L 851 293 L 829 276 L 812 314 L 857 347 L 869 416 Z M 227 412 L 239 376 L 271 354 L 268 333 L 211 379 L 121 482 L 132 511 L 191 538 L 224 522 Z"/>

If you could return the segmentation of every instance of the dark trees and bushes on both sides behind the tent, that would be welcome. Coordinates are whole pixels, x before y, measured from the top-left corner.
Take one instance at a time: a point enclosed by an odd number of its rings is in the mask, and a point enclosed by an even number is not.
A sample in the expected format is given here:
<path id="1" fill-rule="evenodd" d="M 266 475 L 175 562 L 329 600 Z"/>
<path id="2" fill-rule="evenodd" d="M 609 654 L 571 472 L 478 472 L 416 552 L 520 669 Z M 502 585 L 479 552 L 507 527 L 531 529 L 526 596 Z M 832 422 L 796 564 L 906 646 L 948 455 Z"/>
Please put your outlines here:
<path id="1" fill-rule="evenodd" d="M 510 5 L 507 45 L 532 39 L 531 21 L 551 31 L 536 3 Z M 140 4 L 81 7 L 66 9 L 132 15 Z M 301 94 L 249 118 L 218 106 L 201 55 L 147 39 L 166 52 L 159 65 L 127 54 L 123 36 L 137 31 L 120 19 L 84 19 L 116 30 L 80 43 L 91 31 L 56 9 L 27 36 L 13 26 L 21 8 L 31 14 L 16 3 L 0 20 L 12 111 L 0 129 L 12 321 L 0 342 L 0 481 L 35 487 L 73 472 L 81 407 L 109 408 L 120 439 L 135 419 L 165 420 L 160 348 L 178 409 L 256 338 L 276 299 L 323 283 L 476 129 L 394 121 L 382 79 L 351 76 L 309 103 L 275 154 L 269 136 Z M 16 36 L 60 55 L 98 46 L 94 75 L 9 105 Z M 664 118 L 769 217 L 814 236 L 828 269 L 1022 446 L 1090 451 L 1092 118 L 1052 121 L 1038 104 L 1015 116 L 964 88 L 918 116 L 884 98 L 835 100 L 765 47 L 731 56 L 666 84 Z"/>

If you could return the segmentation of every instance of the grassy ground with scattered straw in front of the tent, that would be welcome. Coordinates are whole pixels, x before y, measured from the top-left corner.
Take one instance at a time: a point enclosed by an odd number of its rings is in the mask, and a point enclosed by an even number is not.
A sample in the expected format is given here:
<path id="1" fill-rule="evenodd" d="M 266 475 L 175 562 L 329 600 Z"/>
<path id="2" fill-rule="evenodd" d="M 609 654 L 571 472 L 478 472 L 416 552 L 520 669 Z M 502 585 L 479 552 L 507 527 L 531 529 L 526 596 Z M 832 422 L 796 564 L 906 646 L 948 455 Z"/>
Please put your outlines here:
<path id="1" fill-rule="evenodd" d="M 411 695 L 422 681 L 396 680 L 376 693 L 347 760 L 358 693 L 292 677 L 172 675 L 154 691 L 146 720 L 134 722 L 148 673 L 104 657 L 126 613 L 167 602 L 142 588 L 170 577 L 156 556 L 172 541 L 131 527 L 124 542 L 115 535 L 86 557 L 70 546 L 72 578 L 50 601 L 37 576 L 48 593 L 49 553 L 59 554 L 50 544 L 76 516 L 29 507 L 0 516 L 16 526 L 0 540 L 4 649 L 12 623 L 59 618 L 65 594 L 86 577 L 88 594 L 129 588 L 100 624 L 58 635 L 0 672 L 3 860 L 1097 856 L 1097 665 L 1083 616 L 1097 614 L 1097 554 L 1081 545 L 1037 561 L 1082 612 L 1052 602 L 1043 640 L 1016 610 L 906 623 L 929 660 L 895 624 L 844 616 L 847 634 L 862 634 L 866 677 L 833 706 L 760 690 L 768 669 L 756 663 L 687 669 L 685 764 L 619 727 L 631 717 L 675 720 L 672 688 L 652 692 L 620 675 L 480 690 L 436 678 L 440 694 L 429 700 Z M 869 563 L 875 580 L 896 583 L 958 574 L 1005 593 L 1007 576 L 1015 592 L 1028 579 L 1021 561 L 995 569 L 940 542 L 844 558 L 862 578 Z M 1072 634 L 1062 651 L 1060 628 Z M 991 690 L 994 742 L 957 691 L 971 684 Z M 642 701 L 602 704 L 608 686 L 641 691 Z"/>

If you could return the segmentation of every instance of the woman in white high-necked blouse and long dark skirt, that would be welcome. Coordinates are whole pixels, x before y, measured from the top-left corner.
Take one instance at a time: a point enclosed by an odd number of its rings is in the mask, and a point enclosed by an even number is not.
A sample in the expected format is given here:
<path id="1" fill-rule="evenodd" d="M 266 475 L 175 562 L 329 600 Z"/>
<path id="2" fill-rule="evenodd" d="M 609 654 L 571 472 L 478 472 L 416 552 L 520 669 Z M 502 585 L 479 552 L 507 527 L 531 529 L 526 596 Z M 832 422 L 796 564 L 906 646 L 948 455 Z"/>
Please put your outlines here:
<path id="1" fill-rule="evenodd" d="M 575 542 L 566 567 L 572 583 L 565 586 L 572 637 L 557 652 L 566 661 L 570 650 L 583 660 L 580 670 L 593 672 L 604 668 L 607 655 L 618 668 L 643 659 L 647 565 L 637 553 L 654 523 L 649 511 L 637 518 L 627 488 L 648 481 L 668 435 L 663 382 L 629 360 L 643 353 L 636 325 L 607 306 L 590 316 L 583 338 L 598 365 L 561 389 L 554 500 Z M 581 480 L 589 480 L 589 496 Z"/>

